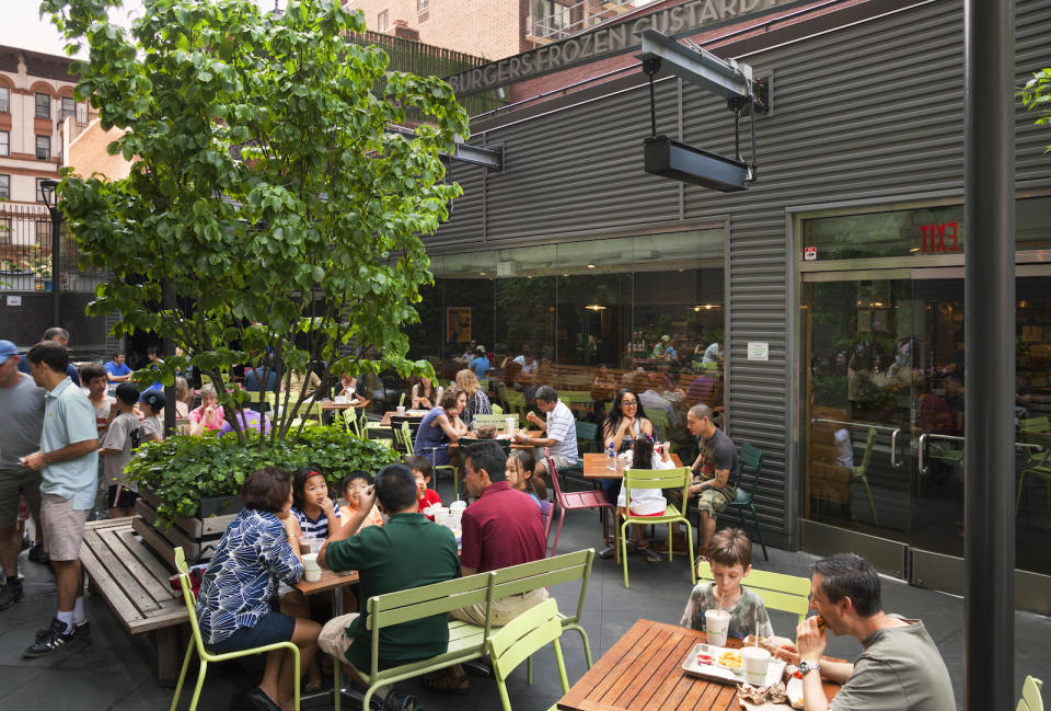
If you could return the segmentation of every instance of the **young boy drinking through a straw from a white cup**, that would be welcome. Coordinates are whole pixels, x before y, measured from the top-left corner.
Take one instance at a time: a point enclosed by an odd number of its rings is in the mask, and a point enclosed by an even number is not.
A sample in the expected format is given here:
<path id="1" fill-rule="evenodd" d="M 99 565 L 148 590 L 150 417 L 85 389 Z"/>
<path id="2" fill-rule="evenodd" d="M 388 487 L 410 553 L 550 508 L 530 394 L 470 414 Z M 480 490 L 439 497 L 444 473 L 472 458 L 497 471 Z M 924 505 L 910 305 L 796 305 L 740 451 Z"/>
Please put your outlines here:
<path id="1" fill-rule="evenodd" d="M 715 582 L 697 583 L 679 624 L 703 630 L 705 610 L 718 609 L 730 613 L 729 637 L 744 639 L 757 630 L 760 637 L 773 637 L 763 598 L 741 587 L 741 581 L 752 571 L 752 541 L 748 534 L 740 528 L 725 528 L 713 536 L 708 563 Z"/>

